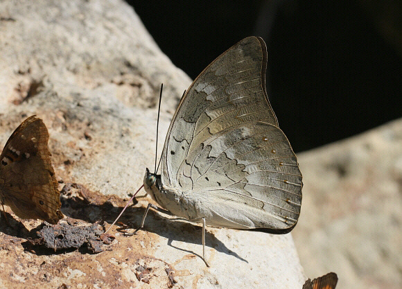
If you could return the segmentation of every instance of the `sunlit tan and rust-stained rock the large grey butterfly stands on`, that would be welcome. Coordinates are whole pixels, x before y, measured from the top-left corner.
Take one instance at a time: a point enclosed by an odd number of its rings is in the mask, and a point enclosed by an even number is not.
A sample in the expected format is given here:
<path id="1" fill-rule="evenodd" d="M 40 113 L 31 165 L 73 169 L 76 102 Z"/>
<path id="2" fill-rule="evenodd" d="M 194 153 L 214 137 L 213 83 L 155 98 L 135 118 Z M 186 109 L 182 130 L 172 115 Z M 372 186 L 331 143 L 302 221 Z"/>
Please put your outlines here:
<path id="1" fill-rule="evenodd" d="M 154 166 L 159 85 L 163 135 L 191 80 L 121 0 L 3 1 L 0 31 L 0 145 L 37 114 L 60 190 L 80 191 L 63 197 L 61 222 L 112 222 Z M 138 227 L 148 201 L 121 222 Z M 9 219 L 0 227 L 1 288 L 302 288 L 306 279 L 290 234 L 208 229 L 207 268 L 200 227 L 155 212 L 135 236 L 114 228 L 100 254 L 37 252 L 26 238 L 40 222 Z"/>

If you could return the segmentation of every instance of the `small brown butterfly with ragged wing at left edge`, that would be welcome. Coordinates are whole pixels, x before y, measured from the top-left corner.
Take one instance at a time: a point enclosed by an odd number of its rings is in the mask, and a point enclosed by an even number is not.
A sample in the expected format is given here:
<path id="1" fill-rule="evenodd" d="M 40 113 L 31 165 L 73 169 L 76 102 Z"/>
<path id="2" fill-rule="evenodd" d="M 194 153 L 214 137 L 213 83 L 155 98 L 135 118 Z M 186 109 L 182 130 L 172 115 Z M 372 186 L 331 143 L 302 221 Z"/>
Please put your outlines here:
<path id="1" fill-rule="evenodd" d="M 57 224 L 63 214 L 48 141 L 46 125 L 36 116 L 11 134 L 0 155 L 0 202 L 19 218 Z"/>

